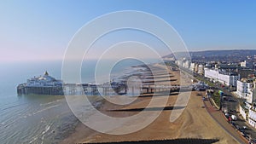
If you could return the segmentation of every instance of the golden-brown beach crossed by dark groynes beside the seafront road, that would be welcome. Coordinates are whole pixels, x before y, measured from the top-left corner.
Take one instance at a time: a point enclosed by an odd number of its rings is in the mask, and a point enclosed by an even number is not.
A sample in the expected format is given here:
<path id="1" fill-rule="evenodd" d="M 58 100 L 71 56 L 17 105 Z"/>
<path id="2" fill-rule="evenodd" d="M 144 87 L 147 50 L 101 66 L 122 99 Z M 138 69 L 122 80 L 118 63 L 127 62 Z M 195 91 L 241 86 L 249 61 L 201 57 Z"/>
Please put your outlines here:
<path id="1" fill-rule="evenodd" d="M 171 79 L 178 79 L 177 81 L 172 81 L 172 84 L 179 84 L 179 79 L 183 80 L 183 78 L 180 78 L 179 71 L 170 73 L 173 76 Z M 161 104 L 158 106 L 164 107 L 164 110 L 160 112 L 159 117 L 143 130 L 138 130 L 127 135 L 108 135 L 96 132 L 95 130 L 90 130 L 90 128 L 80 123 L 73 134 L 69 135 L 61 143 L 149 141 L 166 139 L 172 140 L 178 138 L 217 139 L 218 141 L 216 143 L 237 143 L 214 121 L 214 119 L 212 119 L 207 112 L 207 109 L 202 107 L 204 106 L 204 102 L 201 99 L 201 95 L 197 95 L 198 93 L 204 95 L 203 91 L 193 91 L 183 113 L 172 123 L 170 122 L 170 115 L 173 110 L 172 108 L 165 107 L 174 107 L 178 96 L 177 92 L 172 92 L 171 95 L 154 95 L 159 101 L 166 99 L 167 97 L 167 101 L 165 105 Z M 147 107 L 151 99 L 152 96 L 137 97 L 136 101 L 125 107 L 115 106 L 107 101 L 103 103 L 100 111 L 108 114 L 109 116 L 124 118 L 138 113 L 134 110 Z M 148 113 L 149 112 L 150 111 L 148 111 Z"/>

